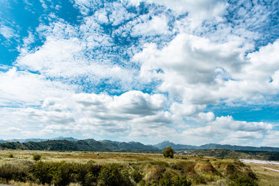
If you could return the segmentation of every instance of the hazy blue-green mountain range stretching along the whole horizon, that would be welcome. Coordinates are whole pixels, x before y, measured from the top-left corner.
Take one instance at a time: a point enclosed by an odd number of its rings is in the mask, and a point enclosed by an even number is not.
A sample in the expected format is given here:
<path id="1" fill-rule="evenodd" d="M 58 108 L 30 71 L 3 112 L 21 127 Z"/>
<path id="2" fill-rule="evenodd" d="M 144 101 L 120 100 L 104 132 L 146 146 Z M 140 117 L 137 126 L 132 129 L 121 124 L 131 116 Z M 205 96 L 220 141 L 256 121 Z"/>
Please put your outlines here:
<path id="1" fill-rule="evenodd" d="M 73 137 L 56 137 L 53 139 L 10 139 L 1 140 L 0 148 L 22 149 L 22 150 L 77 150 L 77 151 L 137 151 L 137 152 L 161 152 L 163 148 L 172 146 L 174 150 L 250 150 L 279 152 L 276 147 L 254 147 L 254 146 L 232 146 L 220 144 L 205 144 L 202 146 L 190 146 L 184 144 L 174 144 L 171 141 L 163 141 L 156 145 L 144 145 L 140 142 L 119 142 L 110 140 L 96 141 L 95 139 L 75 139 Z"/>

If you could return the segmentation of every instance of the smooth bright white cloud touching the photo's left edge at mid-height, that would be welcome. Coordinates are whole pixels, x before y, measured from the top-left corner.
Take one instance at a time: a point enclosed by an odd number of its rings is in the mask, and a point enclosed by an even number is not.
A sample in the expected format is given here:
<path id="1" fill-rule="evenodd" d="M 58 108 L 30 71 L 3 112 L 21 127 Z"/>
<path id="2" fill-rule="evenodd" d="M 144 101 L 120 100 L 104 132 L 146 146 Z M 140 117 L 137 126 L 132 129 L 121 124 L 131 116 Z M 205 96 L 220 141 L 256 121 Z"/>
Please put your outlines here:
<path id="1" fill-rule="evenodd" d="M 16 68 L 0 72 L 0 104 L 2 106 L 38 105 L 48 96 L 66 96 L 74 88 L 74 85 L 51 82 L 41 75 L 17 71 Z"/>

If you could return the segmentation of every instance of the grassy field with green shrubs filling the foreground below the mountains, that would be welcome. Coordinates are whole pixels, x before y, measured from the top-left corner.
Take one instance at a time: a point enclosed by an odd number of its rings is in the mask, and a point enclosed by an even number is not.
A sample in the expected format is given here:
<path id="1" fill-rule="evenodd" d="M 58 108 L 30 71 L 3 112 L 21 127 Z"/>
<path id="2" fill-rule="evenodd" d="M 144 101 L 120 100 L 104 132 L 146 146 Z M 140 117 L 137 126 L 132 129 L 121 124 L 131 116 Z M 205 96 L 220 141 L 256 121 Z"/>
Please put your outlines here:
<path id="1" fill-rule="evenodd" d="M 189 155 L 0 150 L 0 182 L 15 185 L 279 185 L 279 172 L 262 166 Z"/>

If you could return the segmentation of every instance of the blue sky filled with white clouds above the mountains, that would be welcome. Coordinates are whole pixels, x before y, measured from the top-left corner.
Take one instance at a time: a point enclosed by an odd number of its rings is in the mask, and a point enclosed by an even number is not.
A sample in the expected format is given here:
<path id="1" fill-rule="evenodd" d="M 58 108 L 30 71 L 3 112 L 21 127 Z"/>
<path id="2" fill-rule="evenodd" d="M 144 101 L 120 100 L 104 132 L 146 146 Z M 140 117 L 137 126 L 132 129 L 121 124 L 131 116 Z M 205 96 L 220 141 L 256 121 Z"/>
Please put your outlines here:
<path id="1" fill-rule="evenodd" d="M 0 139 L 279 146 L 278 7 L 0 0 Z"/>

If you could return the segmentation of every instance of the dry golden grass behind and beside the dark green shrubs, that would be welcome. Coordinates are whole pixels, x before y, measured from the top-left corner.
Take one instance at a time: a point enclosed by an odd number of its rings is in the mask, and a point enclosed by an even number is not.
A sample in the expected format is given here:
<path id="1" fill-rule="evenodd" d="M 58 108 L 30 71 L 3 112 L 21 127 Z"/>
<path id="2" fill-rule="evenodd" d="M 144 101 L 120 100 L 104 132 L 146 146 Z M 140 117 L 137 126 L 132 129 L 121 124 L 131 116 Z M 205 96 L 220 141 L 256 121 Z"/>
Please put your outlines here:
<path id="1" fill-rule="evenodd" d="M 10 157 L 10 154 L 13 157 Z M 160 154 L 149 153 L 100 153 L 94 152 L 58 152 L 36 150 L 0 150 L 0 166 L 7 162 L 20 164 L 20 162 L 35 162 L 33 155 L 40 155 L 43 162 L 77 162 L 86 164 L 93 161 L 96 164 L 117 163 L 123 164 L 129 170 L 140 170 L 144 173 L 144 180 L 158 180 L 162 176 L 162 170 L 172 175 L 185 174 L 192 180 L 193 185 L 228 185 L 231 183 L 228 176 L 232 173 L 250 172 L 256 173 L 259 185 L 279 185 L 279 172 L 262 168 L 260 164 L 246 166 L 236 159 L 222 159 L 213 157 L 198 157 L 188 155 L 175 155 L 172 158 L 164 158 Z M 271 169 L 278 169 L 278 165 L 264 165 Z M 10 183 L 13 185 L 32 185 L 33 183 Z M 71 185 L 79 185 L 73 183 Z"/>

